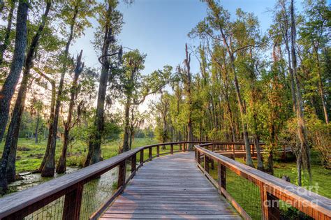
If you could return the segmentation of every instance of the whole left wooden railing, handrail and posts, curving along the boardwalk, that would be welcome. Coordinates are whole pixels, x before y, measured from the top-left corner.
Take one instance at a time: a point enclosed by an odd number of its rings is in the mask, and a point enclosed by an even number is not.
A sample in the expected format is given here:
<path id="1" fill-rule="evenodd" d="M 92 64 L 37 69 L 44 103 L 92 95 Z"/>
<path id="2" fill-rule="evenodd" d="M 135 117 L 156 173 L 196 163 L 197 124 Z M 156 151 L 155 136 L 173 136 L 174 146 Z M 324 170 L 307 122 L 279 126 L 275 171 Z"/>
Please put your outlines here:
<path id="1" fill-rule="evenodd" d="M 105 208 L 122 193 L 126 184 L 133 178 L 135 172 L 143 166 L 143 163 L 151 161 L 154 157 L 161 156 L 162 154 L 184 152 L 187 150 L 187 145 L 190 143 L 198 144 L 203 142 L 167 142 L 138 147 L 88 166 L 87 168 L 82 168 L 74 173 L 57 177 L 30 189 L 5 196 L 0 198 L 0 219 L 23 219 L 29 214 L 41 210 L 47 204 L 52 203 L 62 196 L 64 196 L 64 205 L 61 208 L 61 219 L 80 219 L 84 184 L 101 177 L 101 175 L 114 168 L 118 168 L 117 189 L 115 193 L 112 193 L 112 196 L 91 215 L 90 219 L 96 219 Z M 174 149 L 175 145 L 179 145 L 179 150 Z M 162 146 L 170 146 L 170 151 L 160 154 L 160 147 Z M 156 149 L 154 156 L 152 154 L 153 149 Z M 145 151 L 148 151 L 146 159 L 144 158 Z M 140 155 L 139 163 L 137 163 L 137 155 Z M 131 162 L 131 175 L 126 177 L 126 166 L 128 162 Z M 112 186 L 110 185 L 109 187 L 111 188 Z"/>

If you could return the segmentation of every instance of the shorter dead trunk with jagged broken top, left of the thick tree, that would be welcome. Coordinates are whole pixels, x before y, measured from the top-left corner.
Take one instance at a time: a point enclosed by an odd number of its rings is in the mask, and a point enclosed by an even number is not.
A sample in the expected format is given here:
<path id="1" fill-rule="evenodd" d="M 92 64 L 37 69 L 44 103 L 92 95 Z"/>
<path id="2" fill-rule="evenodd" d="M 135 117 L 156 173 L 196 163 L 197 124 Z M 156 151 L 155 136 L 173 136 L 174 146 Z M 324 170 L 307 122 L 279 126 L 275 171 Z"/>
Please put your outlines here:
<path id="1" fill-rule="evenodd" d="M 69 133 L 72 128 L 72 118 L 73 118 L 73 106 L 75 105 L 75 97 L 78 94 L 78 78 L 80 77 L 80 73 L 82 73 L 84 68 L 84 63 L 82 63 L 82 50 L 80 51 L 79 56 L 77 57 L 74 76 L 73 76 L 73 84 L 71 85 L 71 97 L 68 109 L 68 117 L 66 119 L 66 123 L 64 124 L 64 145 L 62 146 L 61 156 L 57 163 L 57 173 L 65 173 L 66 172 L 66 152 L 68 149 L 69 143 Z"/>

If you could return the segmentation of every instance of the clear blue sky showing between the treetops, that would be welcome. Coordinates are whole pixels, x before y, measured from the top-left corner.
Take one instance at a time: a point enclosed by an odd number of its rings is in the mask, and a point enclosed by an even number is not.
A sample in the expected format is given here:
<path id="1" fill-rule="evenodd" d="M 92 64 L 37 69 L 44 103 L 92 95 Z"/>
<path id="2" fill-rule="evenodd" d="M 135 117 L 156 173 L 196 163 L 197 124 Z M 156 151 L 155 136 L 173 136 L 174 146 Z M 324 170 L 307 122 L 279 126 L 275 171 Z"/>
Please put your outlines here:
<path id="1" fill-rule="evenodd" d="M 223 0 L 223 7 L 235 14 L 236 8 L 255 13 L 263 31 L 272 22 L 275 0 Z M 162 68 L 165 64 L 177 66 L 184 60 L 184 45 L 198 44 L 187 34 L 206 15 L 206 4 L 199 0 L 135 0 L 130 6 L 121 3 L 118 8 L 124 15 L 124 27 L 117 37 L 126 47 L 138 49 L 147 54 L 145 71 L 148 74 Z M 98 24 L 93 21 L 96 27 Z M 94 38 L 94 29 L 87 29 L 85 36 L 71 47 L 71 52 L 84 50 L 87 66 L 99 67 L 96 53 L 90 41 Z M 191 61 L 193 73 L 198 72 L 198 61 Z"/>

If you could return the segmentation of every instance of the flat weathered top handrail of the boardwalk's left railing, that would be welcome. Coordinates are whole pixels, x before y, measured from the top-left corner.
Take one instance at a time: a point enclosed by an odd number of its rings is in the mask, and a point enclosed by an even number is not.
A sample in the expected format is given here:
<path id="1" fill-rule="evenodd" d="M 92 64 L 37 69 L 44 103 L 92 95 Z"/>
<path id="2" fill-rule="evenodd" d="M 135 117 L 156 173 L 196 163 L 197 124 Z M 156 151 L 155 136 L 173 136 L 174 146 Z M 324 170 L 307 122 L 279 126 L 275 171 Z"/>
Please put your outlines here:
<path id="1" fill-rule="evenodd" d="M 210 142 L 210 141 L 209 141 Z M 8 196 L 0 198 L 0 219 L 3 217 L 8 217 L 10 214 L 24 210 L 24 208 L 34 205 L 39 201 L 45 200 L 45 198 L 50 198 L 56 195 L 57 198 L 64 196 L 69 191 L 72 191 L 77 184 L 85 184 L 91 179 L 94 179 L 103 173 L 108 172 L 112 168 L 119 166 L 120 163 L 130 159 L 131 156 L 141 152 L 143 149 L 149 149 L 152 147 L 163 146 L 163 145 L 182 145 L 182 144 L 201 144 L 209 143 L 208 141 L 179 141 L 179 142 L 165 142 L 157 143 L 153 145 L 146 145 L 143 147 L 137 147 L 128 152 L 124 152 L 117 156 L 113 156 L 110 159 L 100 161 L 86 168 L 82 168 L 73 173 L 51 179 L 43 184 L 33 186 L 29 189 L 19 191 L 17 193 L 12 193 Z M 166 154 L 171 154 L 167 152 Z M 145 162 L 145 161 L 143 161 Z M 56 199 L 56 198 L 55 198 Z M 54 200 L 54 197 L 52 198 Z"/>

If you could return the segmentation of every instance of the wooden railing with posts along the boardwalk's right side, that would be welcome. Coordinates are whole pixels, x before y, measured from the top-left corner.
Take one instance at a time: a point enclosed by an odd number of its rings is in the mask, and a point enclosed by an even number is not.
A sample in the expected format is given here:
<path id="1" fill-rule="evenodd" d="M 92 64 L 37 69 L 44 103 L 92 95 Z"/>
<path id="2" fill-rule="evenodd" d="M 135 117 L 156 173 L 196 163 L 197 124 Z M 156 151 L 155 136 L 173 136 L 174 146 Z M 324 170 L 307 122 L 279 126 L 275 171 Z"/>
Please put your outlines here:
<path id="1" fill-rule="evenodd" d="M 196 163 L 198 167 L 205 173 L 206 177 L 219 189 L 219 192 L 225 196 L 235 209 L 240 212 L 244 219 L 251 219 L 247 210 L 231 196 L 226 187 L 226 170 L 230 170 L 236 175 L 247 179 L 249 182 L 255 184 L 260 192 L 260 209 L 262 211 L 263 219 L 279 219 L 279 200 L 295 207 L 297 210 L 309 215 L 314 219 L 331 219 L 331 200 L 320 196 L 311 191 L 307 191 L 302 187 L 295 186 L 282 179 L 263 173 L 240 162 L 229 159 L 227 156 L 212 152 L 209 149 L 215 143 L 207 143 L 203 145 L 196 145 Z M 209 149 L 206 149 L 209 147 Z M 216 166 L 214 165 L 216 163 Z M 201 166 L 203 164 L 203 166 Z M 217 167 L 217 178 L 214 179 L 210 175 L 209 169 L 211 166 Z M 244 191 L 244 189 L 236 189 L 237 191 Z"/>

